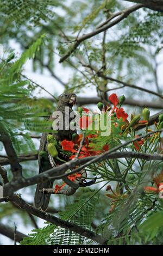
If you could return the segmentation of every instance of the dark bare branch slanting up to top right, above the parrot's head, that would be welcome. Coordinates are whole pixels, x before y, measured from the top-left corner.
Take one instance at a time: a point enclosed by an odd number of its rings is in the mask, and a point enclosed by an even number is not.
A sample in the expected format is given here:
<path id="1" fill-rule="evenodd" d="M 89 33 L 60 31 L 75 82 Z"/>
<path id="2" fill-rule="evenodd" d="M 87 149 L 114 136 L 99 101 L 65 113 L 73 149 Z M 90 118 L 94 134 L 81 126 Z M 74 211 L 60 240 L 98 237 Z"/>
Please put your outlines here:
<path id="1" fill-rule="evenodd" d="M 107 29 L 115 26 L 117 23 L 119 23 L 120 21 L 122 21 L 123 19 L 125 19 L 129 14 L 133 13 L 133 11 L 136 11 L 137 9 L 140 9 L 144 7 L 144 5 L 142 4 L 136 4 L 130 8 L 124 9 L 122 11 L 122 14 L 120 16 L 117 17 L 117 19 L 115 19 L 114 21 L 110 22 L 108 25 L 105 25 L 103 27 L 97 28 L 95 31 L 92 31 L 91 33 L 85 34 L 80 36 L 79 38 L 76 39 L 76 42 L 74 43 L 74 45 L 71 47 L 71 49 L 60 58 L 59 63 L 64 62 L 65 59 L 67 59 L 75 50 L 76 48 L 81 44 L 81 42 L 83 42 L 86 39 L 92 38 L 92 36 L 95 36 L 99 33 L 102 33 L 104 31 L 106 31 Z"/>

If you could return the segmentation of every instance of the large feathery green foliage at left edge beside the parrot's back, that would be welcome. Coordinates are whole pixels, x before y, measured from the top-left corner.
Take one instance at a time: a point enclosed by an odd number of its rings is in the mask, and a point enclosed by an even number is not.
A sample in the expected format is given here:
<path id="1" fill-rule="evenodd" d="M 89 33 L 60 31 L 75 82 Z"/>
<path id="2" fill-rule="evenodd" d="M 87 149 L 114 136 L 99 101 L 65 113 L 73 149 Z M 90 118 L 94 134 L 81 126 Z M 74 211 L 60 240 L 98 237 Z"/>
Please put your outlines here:
<path id="1" fill-rule="evenodd" d="M 9 63 L 8 59 L 2 59 L 0 63 L 1 125 L 9 134 L 17 153 L 28 153 L 29 150 L 35 150 L 28 130 L 42 132 L 49 126 L 49 123 L 41 118 L 46 113 L 39 112 L 38 106 L 30 106 L 28 99 L 32 99 L 34 88 L 30 81 L 23 80 L 23 76 L 20 75 L 23 64 L 27 59 L 34 58 L 36 51 L 39 51 L 43 38 L 45 35 L 38 38 L 16 62 Z"/>

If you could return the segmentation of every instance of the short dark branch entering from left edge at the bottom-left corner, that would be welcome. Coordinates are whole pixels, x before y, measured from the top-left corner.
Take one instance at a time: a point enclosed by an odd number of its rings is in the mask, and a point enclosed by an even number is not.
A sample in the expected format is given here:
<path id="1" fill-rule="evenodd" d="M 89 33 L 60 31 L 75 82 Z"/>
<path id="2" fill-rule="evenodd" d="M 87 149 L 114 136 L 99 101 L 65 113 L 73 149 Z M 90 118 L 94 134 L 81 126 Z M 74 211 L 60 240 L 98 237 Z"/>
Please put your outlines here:
<path id="1" fill-rule="evenodd" d="M 23 237 L 27 237 L 27 235 L 25 235 L 17 230 L 16 230 L 16 235 L 14 237 L 14 230 L 15 230 L 14 228 L 11 228 L 8 225 L 4 225 L 4 224 L 0 223 L 0 234 L 9 237 L 12 240 L 15 239 L 16 242 L 20 242 L 23 240 Z"/>

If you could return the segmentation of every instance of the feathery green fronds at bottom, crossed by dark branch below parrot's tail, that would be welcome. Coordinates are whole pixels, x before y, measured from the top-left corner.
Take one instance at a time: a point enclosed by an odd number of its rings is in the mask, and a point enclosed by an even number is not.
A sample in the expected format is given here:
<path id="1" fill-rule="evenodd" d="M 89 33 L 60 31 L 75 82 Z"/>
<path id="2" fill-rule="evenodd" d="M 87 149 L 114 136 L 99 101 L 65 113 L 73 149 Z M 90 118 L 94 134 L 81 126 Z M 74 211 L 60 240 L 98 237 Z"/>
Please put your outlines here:
<path id="1" fill-rule="evenodd" d="M 80 227 L 90 229 L 95 217 L 98 193 L 95 190 L 83 190 L 82 196 L 76 197 L 72 204 L 68 204 L 59 216 L 62 220 L 78 224 Z M 65 228 L 48 224 L 41 229 L 33 230 L 29 237 L 25 237 L 21 245 L 82 245 L 84 236 Z"/>

